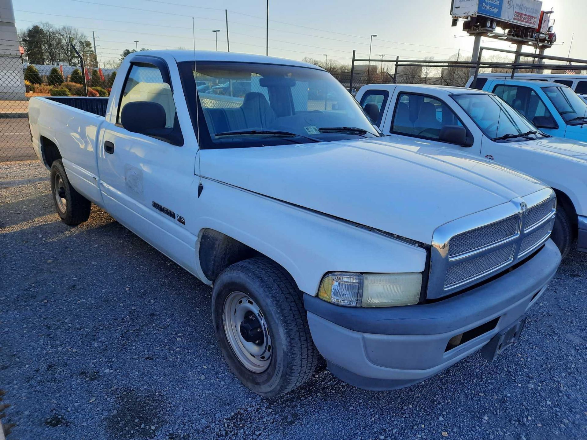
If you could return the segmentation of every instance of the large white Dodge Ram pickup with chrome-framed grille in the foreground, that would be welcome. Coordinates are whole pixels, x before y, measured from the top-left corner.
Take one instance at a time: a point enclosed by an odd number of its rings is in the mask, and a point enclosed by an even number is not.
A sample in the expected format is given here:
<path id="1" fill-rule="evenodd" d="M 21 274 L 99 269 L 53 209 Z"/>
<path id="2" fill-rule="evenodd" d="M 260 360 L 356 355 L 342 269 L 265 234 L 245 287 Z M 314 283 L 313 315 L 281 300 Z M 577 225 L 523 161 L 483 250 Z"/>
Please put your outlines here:
<path id="1" fill-rule="evenodd" d="M 222 354 L 260 395 L 302 384 L 320 354 L 376 390 L 492 359 L 561 259 L 551 188 L 393 147 L 306 63 L 137 52 L 108 100 L 33 98 L 29 120 L 63 221 L 96 204 L 212 285 Z"/>

